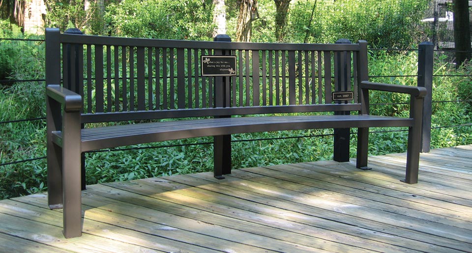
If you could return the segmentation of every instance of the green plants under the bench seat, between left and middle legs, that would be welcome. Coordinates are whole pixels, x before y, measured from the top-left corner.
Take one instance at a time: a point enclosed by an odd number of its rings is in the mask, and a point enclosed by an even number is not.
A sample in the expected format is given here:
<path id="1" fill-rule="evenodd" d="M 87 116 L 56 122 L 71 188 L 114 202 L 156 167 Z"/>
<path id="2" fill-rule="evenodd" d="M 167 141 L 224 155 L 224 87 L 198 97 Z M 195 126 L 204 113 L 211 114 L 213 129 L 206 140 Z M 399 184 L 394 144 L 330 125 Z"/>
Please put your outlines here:
<path id="1" fill-rule="evenodd" d="M 212 169 L 212 145 L 199 144 L 208 140 L 176 140 L 89 153 L 86 159 L 87 182 L 93 184 L 209 171 Z"/>

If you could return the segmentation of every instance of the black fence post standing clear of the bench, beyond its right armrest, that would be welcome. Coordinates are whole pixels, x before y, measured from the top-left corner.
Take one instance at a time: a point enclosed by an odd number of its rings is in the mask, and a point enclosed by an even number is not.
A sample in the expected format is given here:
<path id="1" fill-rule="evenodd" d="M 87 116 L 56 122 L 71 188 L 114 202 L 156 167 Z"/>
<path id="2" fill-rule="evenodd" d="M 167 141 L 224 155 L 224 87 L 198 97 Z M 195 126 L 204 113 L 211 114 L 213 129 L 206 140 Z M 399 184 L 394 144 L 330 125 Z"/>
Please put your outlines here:
<path id="1" fill-rule="evenodd" d="M 425 87 L 428 94 L 423 102 L 423 121 L 421 131 L 421 152 L 429 152 L 431 147 L 431 114 L 433 101 L 433 59 L 434 45 L 422 42 L 418 46 L 418 86 Z"/>

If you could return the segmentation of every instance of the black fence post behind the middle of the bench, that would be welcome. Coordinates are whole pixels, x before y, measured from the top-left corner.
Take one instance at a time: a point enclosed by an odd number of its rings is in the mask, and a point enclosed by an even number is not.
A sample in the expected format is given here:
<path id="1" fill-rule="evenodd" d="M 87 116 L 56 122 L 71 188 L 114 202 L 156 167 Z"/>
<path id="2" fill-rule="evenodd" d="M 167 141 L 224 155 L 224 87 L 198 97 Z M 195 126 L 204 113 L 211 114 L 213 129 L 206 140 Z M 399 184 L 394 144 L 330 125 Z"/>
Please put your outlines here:
<path id="1" fill-rule="evenodd" d="M 218 34 L 213 38 L 217 42 L 231 42 L 231 37 L 226 34 Z M 215 54 L 230 55 L 230 51 L 215 51 Z M 230 105 L 230 77 L 214 77 L 214 107 L 227 107 Z M 231 116 L 219 116 L 225 118 Z M 231 135 L 213 136 L 213 173 L 214 177 L 223 179 L 224 174 L 231 174 Z"/>

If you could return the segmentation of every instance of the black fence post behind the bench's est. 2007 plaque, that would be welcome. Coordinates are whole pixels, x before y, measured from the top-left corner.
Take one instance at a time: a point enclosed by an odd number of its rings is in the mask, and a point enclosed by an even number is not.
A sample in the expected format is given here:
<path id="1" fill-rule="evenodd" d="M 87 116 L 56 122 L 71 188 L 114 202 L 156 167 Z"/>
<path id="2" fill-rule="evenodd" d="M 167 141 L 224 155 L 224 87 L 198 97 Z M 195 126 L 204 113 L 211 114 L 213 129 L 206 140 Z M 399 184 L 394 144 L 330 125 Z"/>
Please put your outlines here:
<path id="1" fill-rule="evenodd" d="M 339 39 L 336 44 L 352 44 L 348 39 Z M 334 91 L 351 91 L 351 52 L 335 52 L 334 76 L 336 78 Z M 347 103 L 347 101 L 336 101 Z M 349 115 L 350 111 L 334 112 L 335 115 Z M 350 128 L 334 129 L 333 160 L 337 162 L 349 161 Z"/>

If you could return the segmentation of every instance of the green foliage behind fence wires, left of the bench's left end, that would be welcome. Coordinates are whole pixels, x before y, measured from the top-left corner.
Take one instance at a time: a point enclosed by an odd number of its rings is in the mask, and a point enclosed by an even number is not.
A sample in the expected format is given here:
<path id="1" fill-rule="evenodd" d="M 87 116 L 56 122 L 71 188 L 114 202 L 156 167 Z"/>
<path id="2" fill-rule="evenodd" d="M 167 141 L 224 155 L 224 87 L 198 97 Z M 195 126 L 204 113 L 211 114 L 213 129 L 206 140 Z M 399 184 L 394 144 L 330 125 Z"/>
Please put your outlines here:
<path id="1" fill-rule="evenodd" d="M 17 26 L 0 24 L 2 38 L 21 34 Z M 43 82 L 16 82 L 44 79 L 44 43 L 3 40 L 0 62 L 0 79 L 11 81 L 0 83 L 0 122 L 10 122 L 0 125 L 0 163 L 42 157 L 46 153 L 45 124 L 40 120 L 14 121 L 45 115 Z M 44 159 L 0 166 L 0 199 L 44 191 L 45 168 Z"/>

